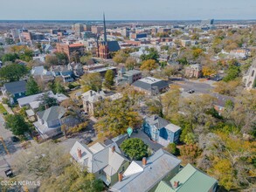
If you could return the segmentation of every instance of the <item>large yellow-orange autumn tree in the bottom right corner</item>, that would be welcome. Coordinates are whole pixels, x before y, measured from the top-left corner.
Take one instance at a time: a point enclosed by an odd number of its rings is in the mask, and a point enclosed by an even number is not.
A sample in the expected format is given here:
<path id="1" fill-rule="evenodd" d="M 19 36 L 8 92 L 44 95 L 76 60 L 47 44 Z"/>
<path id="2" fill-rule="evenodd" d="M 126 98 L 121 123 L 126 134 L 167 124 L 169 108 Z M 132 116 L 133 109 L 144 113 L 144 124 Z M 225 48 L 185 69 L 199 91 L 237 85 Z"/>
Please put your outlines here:
<path id="1" fill-rule="evenodd" d="M 218 131 L 202 138 L 202 156 L 208 174 L 218 179 L 225 189 L 242 189 L 250 185 L 250 178 L 256 176 L 256 142 L 245 141 L 240 135 Z M 207 160 L 207 161 L 205 161 Z"/>

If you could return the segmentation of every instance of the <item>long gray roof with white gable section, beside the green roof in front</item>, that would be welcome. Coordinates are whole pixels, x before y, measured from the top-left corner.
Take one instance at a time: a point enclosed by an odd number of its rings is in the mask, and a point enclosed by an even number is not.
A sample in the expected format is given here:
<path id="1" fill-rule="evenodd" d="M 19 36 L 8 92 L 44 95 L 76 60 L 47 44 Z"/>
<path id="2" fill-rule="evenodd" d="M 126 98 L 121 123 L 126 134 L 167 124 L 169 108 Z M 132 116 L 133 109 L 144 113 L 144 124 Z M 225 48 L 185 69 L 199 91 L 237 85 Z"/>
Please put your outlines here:
<path id="1" fill-rule="evenodd" d="M 141 161 L 133 161 L 124 172 L 121 182 L 117 182 L 110 191 L 146 192 L 152 189 L 171 170 L 180 165 L 180 160 L 172 154 L 159 149 L 148 158 L 147 165 L 142 166 Z"/>

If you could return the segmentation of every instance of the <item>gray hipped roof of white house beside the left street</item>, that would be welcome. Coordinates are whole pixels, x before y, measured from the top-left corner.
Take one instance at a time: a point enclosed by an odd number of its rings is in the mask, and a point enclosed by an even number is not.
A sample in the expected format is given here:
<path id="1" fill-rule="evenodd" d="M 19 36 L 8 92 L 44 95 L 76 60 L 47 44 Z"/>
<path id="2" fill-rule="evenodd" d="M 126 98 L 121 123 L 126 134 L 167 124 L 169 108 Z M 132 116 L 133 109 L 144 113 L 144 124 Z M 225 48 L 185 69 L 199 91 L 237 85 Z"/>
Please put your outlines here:
<path id="1" fill-rule="evenodd" d="M 59 120 L 66 113 L 66 109 L 62 106 L 52 106 L 45 111 L 38 112 L 38 117 L 42 120 Z"/>

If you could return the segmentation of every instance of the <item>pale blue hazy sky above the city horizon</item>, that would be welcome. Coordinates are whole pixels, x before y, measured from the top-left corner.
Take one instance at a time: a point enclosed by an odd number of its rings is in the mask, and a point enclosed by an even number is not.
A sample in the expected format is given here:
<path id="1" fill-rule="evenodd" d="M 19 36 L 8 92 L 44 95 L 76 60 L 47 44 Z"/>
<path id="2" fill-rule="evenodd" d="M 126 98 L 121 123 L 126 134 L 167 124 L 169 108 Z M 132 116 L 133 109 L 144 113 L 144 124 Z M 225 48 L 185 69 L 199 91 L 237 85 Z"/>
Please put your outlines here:
<path id="1" fill-rule="evenodd" d="M 256 0 L 0 0 L 0 20 L 256 19 Z"/>

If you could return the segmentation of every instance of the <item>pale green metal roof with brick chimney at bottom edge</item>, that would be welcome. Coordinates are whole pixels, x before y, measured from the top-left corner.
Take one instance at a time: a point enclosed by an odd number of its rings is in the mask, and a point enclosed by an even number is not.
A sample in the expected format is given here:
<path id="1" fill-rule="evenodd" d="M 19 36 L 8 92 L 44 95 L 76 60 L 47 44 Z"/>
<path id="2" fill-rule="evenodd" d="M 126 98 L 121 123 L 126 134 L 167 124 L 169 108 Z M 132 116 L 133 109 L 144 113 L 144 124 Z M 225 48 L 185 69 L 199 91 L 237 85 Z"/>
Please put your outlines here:
<path id="1" fill-rule="evenodd" d="M 173 189 L 170 184 L 160 182 L 156 192 L 207 192 L 217 180 L 209 175 L 204 174 L 202 171 L 187 164 L 177 175 L 175 175 L 170 183 L 179 182 L 179 187 Z"/>

